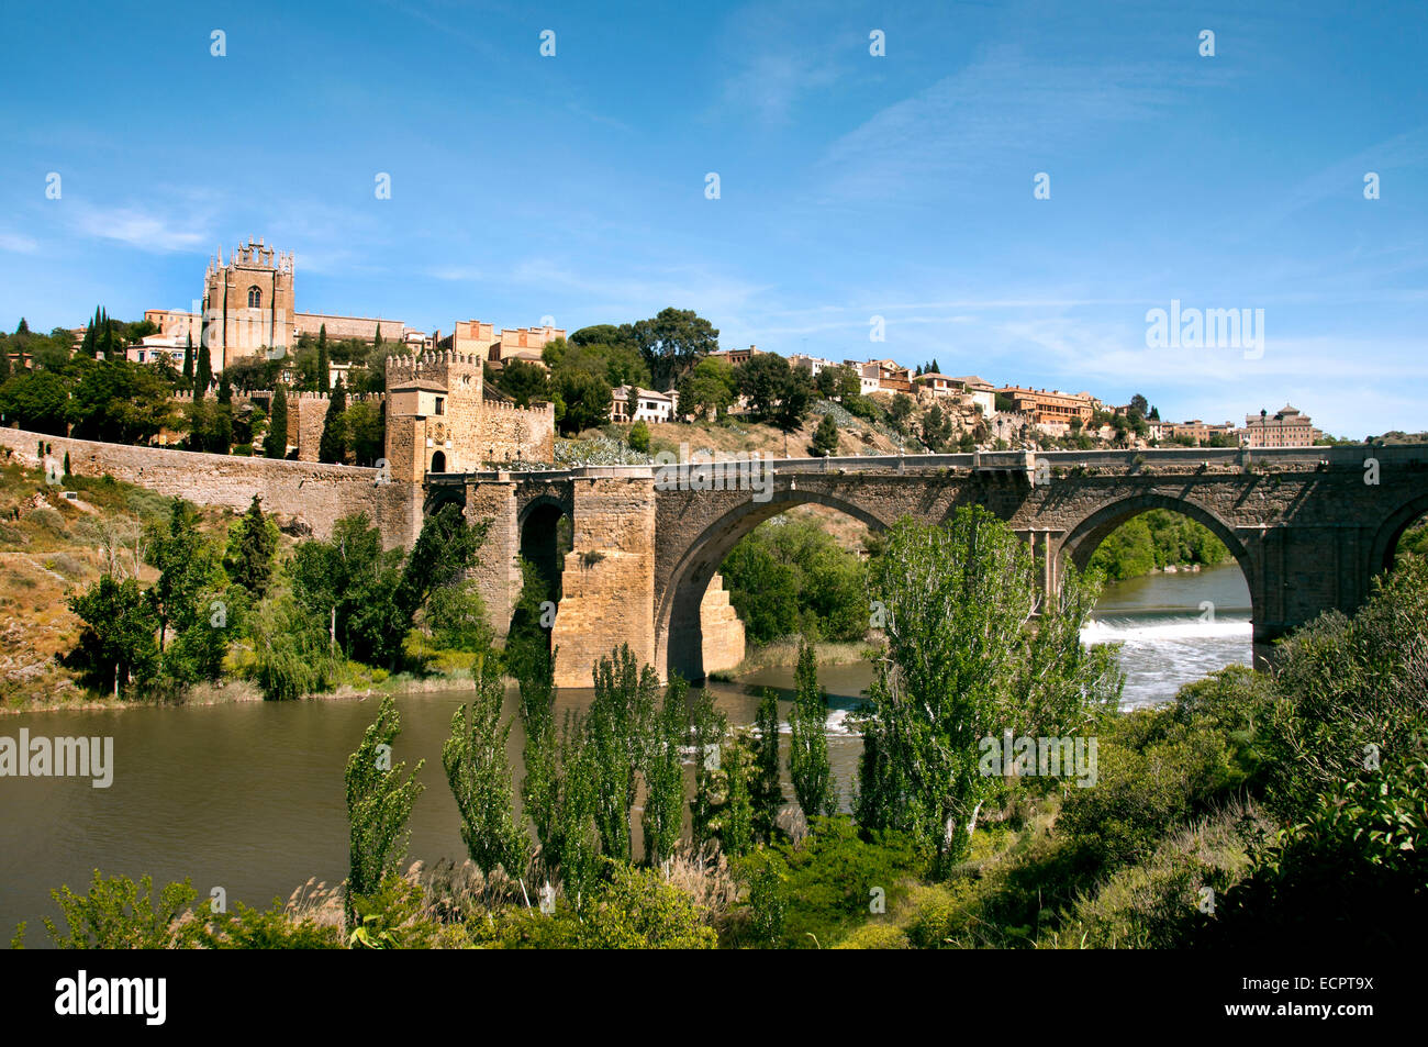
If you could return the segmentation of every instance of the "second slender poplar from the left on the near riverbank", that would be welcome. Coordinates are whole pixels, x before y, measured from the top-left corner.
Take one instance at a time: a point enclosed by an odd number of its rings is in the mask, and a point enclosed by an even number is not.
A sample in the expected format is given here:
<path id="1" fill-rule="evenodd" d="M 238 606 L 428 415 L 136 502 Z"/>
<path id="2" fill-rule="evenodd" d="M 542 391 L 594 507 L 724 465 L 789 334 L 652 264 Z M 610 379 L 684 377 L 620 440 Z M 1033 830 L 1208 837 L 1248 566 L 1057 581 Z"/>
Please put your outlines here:
<path id="1" fill-rule="evenodd" d="M 497 867 L 518 877 L 526 870 L 526 837 L 516 826 L 511 768 L 506 741 L 511 723 L 501 723 L 506 683 L 493 654 L 478 654 L 471 673 L 476 694 L 451 716 L 451 734 L 441 746 L 451 796 L 461 816 L 461 840 L 477 868 Z"/>

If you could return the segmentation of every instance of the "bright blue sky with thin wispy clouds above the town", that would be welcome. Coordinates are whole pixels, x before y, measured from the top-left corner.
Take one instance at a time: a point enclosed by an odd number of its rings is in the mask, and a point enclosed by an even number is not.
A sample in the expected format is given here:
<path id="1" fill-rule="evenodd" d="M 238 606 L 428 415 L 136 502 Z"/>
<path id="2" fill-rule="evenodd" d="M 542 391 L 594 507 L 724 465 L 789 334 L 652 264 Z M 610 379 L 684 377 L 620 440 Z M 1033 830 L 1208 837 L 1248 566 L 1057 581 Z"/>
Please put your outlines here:
<path id="1" fill-rule="evenodd" d="M 1428 6 L 1245 7 L 7 4 L 0 324 L 188 307 L 253 234 L 304 311 L 678 306 L 725 347 L 1428 429 Z M 1262 356 L 1150 349 L 1172 299 L 1262 309 Z"/>

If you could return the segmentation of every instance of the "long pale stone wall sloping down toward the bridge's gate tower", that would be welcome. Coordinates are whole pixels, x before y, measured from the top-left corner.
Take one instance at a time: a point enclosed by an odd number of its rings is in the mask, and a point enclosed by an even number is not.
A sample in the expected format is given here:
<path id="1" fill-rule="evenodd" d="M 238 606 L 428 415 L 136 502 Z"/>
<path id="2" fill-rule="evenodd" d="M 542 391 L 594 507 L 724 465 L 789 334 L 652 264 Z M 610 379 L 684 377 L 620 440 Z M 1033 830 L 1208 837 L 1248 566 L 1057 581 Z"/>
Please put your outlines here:
<path id="1" fill-rule="evenodd" d="M 388 548 L 411 546 L 421 528 L 421 489 L 378 483 L 376 469 L 196 454 L 0 429 L 0 447 L 11 449 L 27 466 L 40 464 L 41 440 L 50 444 L 50 454 L 59 463 L 69 453 L 76 476 L 111 476 L 198 506 L 226 506 L 238 513 L 257 494 L 264 511 L 298 520 L 317 537 L 327 537 L 338 519 L 357 511 L 367 513 L 381 528 Z"/>

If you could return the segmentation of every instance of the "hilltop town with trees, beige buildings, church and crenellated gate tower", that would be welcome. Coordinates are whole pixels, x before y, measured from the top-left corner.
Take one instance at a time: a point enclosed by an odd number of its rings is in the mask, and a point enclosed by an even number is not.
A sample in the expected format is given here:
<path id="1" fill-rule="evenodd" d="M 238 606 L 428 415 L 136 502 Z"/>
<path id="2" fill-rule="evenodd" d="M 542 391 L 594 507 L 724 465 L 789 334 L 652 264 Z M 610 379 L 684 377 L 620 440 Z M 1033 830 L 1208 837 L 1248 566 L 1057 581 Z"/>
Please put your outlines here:
<path id="1" fill-rule="evenodd" d="M 1242 424 L 1170 421 L 937 360 L 723 349 L 691 310 L 568 333 L 548 317 L 423 331 L 298 311 L 296 260 L 261 239 L 203 274 L 191 310 L 20 330 L 0 353 L 7 426 L 113 443 L 386 466 L 404 480 L 484 467 L 640 461 L 688 443 L 784 457 L 1329 441 L 1291 404 Z M 83 361 L 120 367 L 94 371 Z M 120 404 L 123 409 L 120 409 Z"/>

